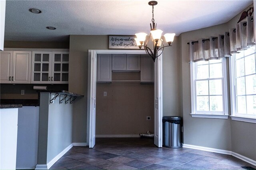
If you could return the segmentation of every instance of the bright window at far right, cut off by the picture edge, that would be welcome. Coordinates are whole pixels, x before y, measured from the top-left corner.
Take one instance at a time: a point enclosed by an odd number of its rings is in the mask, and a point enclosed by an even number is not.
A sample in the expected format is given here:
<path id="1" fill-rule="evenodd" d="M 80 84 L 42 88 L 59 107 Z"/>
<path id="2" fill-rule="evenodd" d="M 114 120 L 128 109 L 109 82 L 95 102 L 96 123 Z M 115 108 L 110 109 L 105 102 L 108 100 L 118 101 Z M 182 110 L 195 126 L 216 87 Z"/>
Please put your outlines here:
<path id="1" fill-rule="evenodd" d="M 256 123 L 255 46 L 231 57 L 230 91 L 232 119 Z"/>

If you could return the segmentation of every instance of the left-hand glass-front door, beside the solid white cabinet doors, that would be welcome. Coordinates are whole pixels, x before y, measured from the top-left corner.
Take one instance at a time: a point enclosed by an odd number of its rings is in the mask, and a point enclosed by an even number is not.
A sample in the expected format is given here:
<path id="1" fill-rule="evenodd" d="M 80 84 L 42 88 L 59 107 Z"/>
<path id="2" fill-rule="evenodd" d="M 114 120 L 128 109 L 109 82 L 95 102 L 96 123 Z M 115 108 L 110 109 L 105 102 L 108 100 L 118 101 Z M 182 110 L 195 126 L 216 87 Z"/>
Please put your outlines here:
<path id="1" fill-rule="evenodd" d="M 51 83 L 53 79 L 51 76 L 51 59 L 52 52 L 32 51 L 31 83 Z"/>

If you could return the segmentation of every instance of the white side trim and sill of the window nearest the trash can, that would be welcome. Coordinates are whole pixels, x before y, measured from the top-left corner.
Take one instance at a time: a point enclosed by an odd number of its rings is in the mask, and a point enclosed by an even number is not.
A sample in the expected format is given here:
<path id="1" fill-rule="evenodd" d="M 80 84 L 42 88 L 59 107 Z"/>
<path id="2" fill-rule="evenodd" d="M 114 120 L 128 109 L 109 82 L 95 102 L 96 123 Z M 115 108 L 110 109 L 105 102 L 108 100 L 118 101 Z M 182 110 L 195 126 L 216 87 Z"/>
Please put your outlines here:
<path id="1" fill-rule="evenodd" d="M 211 114 L 210 111 L 209 112 L 197 112 L 195 111 L 195 84 L 194 84 L 194 77 L 196 77 L 196 71 L 195 69 L 193 69 L 195 63 L 190 63 L 190 91 L 191 91 L 191 117 L 195 117 L 195 118 L 213 118 L 213 119 L 228 119 L 228 92 L 227 92 L 227 75 L 226 75 L 226 59 L 223 58 L 222 59 L 222 74 L 223 74 L 223 87 L 222 87 L 222 91 L 223 91 L 223 109 L 224 109 L 224 114 L 218 114 L 218 112 L 215 112 L 216 114 Z M 211 111 L 212 112 L 212 111 Z"/>

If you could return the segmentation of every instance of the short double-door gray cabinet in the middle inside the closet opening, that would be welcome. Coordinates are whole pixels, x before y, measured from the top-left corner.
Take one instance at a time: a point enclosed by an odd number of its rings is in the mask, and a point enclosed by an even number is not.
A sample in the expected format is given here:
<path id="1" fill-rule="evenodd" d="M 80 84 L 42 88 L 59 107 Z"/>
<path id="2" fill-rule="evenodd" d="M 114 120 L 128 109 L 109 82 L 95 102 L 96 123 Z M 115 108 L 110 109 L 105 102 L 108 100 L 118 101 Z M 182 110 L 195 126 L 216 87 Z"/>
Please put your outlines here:
<path id="1" fill-rule="evenodd" d="M 140 54 L 112 54 L 112 71 L 140 71 Z"/>

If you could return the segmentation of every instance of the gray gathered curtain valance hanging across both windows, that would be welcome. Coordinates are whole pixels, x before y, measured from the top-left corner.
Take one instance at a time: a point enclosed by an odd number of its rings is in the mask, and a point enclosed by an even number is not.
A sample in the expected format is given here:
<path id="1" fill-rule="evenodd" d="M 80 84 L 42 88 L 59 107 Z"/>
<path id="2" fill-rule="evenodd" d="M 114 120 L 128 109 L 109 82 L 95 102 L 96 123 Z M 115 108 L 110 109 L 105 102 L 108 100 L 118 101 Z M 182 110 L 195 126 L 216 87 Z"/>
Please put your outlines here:
<path id="1" fill-rule="evenodd" d="M 246 20 L 236 24 L 236 28 L 230 29 L 224 35 L 190 41 L 190 62 L 230 57 L 233 53 L 255 45 L 253 16 L 248 16 Z"/>

